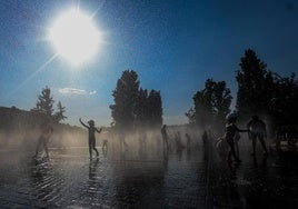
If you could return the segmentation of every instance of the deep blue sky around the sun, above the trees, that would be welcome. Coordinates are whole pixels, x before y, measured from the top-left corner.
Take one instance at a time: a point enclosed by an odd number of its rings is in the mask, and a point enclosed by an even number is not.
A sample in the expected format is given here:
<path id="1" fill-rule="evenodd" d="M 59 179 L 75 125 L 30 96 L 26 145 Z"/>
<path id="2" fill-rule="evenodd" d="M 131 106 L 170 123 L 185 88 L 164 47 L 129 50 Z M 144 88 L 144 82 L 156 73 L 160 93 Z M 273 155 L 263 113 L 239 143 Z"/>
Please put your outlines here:
<path id="1" fill-rule="evenodd" d="M 54 18 L 79 4 L 95 13 L 105 43 L 73 67 L 47 40 Z M 137 71 L 140 86 L 161 91 L 165 123 L 185 123 L 192 96 L 212 78 L 235 97 L 246 49 L 282 76 L 298 71 L 297 1 L 8 0 L 0 4 L 0 106 L 29 110 L 48 86 L 67 108 L 66 122 L 108 126 L 117 79 Z M 71 90 L 71 93 L 70 91 Z"/>

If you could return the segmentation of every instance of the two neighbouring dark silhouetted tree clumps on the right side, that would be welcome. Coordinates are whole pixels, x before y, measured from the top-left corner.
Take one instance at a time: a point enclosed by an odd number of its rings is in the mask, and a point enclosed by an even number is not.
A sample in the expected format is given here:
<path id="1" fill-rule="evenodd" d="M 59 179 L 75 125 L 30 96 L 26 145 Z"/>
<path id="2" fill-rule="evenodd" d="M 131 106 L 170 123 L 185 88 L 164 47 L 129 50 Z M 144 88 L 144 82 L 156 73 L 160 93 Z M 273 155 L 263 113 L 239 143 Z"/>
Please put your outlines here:
<path id="1" fill-rule="evenodd" d="M 245 51 L 240 59 L 240 69 L 236 71 L 238 83 L 236 111 L 244 120 L 252 115 L 267 116 L 275 126 L 297 125 L 298 80 L 292 72 L 290 77 L 281 77 L 267 69 L 256 52 Z M 215 82 L 207 79 L 205 89 L 193 96 L 195 108 L 186 116 L 190 123 L 202 128 L 224 125 L 230 112 L 232 97 L 225 81 Z"/>

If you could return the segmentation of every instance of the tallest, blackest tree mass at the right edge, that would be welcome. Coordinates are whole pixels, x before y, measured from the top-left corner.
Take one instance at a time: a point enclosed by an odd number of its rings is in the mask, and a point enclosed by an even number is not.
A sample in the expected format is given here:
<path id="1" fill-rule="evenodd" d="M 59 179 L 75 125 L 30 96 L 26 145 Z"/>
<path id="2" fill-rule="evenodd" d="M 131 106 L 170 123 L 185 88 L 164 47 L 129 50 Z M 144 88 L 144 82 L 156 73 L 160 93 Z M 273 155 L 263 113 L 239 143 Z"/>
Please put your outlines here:
<path id="1" fill-rule="evenodd" d="M 297 125 L 298 80 L 292 72 L 281 77 L 267 69 L 256 52 L 245 51 L 237 71 L 236 108 L 242 118 L 251 115 L 269 116 L 275 126 Z"/>

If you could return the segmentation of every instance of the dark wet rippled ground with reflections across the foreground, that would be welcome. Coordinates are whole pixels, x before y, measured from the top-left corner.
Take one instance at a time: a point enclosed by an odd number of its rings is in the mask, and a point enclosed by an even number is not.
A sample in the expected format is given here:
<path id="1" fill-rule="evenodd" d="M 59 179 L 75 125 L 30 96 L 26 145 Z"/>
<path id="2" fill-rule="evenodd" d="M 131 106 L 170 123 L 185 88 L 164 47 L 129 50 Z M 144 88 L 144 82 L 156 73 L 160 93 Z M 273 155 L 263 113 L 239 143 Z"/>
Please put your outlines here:
<path id="1" fill-rule="evenodd" d="M 254 159 L 249 148 L 231 167 L 212 146 L 92 161 L 87 148 L 71 148 L 51 150 L 44 163 L 32 151 L 0 150 L 0 208 L 297 208 L 297 157 Z"/>

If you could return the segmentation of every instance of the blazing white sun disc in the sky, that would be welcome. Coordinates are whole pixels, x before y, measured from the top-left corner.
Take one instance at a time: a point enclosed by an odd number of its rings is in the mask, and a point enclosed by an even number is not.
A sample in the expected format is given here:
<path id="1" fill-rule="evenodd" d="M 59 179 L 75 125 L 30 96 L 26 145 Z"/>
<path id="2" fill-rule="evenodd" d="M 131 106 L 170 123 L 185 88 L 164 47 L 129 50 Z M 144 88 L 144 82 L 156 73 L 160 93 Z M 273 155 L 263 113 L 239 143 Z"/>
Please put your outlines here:
<path id="1" fill-rule="evenodd" d="M 48 39 L 60 57 L 78 66 L 95 57 L 101 37 L 91 17 L 71 9 L 53 21 Z"/>

